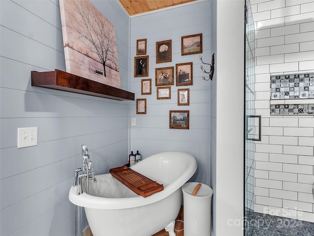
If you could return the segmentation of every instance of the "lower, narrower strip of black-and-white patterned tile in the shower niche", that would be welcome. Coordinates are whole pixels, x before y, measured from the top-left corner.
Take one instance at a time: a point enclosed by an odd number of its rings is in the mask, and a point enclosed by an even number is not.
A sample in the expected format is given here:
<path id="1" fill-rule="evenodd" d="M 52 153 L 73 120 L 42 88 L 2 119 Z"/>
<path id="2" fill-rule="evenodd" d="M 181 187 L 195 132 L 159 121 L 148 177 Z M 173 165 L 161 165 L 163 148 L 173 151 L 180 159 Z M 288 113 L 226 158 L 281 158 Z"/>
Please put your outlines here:
<path id="1" fill-rule="evenodd" d="M 314 104 L 271 104 L 270 115 L 314 115 Z"/>

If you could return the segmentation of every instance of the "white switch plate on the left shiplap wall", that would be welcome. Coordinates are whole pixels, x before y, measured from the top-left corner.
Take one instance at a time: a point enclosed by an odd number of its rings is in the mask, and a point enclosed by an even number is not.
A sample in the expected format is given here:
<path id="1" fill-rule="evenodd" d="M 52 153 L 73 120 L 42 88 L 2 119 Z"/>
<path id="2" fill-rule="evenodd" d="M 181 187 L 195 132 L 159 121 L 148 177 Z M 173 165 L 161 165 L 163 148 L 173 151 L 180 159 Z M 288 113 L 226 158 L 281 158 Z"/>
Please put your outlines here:
<path id="1" fill-rule="evenodd" d="M 38 127 L 18 128 L 18 148 L 37 145 Z"/>

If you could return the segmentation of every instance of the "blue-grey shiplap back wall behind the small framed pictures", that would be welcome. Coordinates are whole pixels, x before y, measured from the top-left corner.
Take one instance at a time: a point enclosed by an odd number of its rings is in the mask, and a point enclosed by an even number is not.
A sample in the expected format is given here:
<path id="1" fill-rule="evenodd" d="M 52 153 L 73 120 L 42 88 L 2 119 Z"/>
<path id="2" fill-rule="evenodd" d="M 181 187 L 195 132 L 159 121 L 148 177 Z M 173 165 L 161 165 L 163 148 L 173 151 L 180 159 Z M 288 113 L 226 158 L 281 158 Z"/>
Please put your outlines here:
<path id="1" fill-rule="evenodd" d="M 198 170 L 193 180 L 209 184 L 209 96 L 210 82 L 202 80 L 199 54 L 181 56 L 181 37 L 203 33 L 203 56 L 210 62 L 210 3 L 200 0 L 172 9 L 131 18 L 131 90 L 135 99 L 147 99 L 147 114 L 136 115 L 131 102 L 130 115 L 136 118 L 131 126 L 131 150 L 140 150 L 143 158 L 160 151 L 185 151 L 195 156 Z M 147 39 L 149 76 L 133 77 L 136 40 Z M 156 42 L 172 40 L 172 61 L 156 63 Z M 171 99 L 157 100 L 155 68 L 193 62 L 193 85 L 171 86 Z M 207 68 L 207 67 L 206 67 Z M 208 69 L 207 69 L 208 70 Z M 205 74 L 204 74 L 205 75 Z M 141 95 L 141 79 L 152 79 L 152 94 Z M 178 89 L 190 89 L 190 105 L 178 106 Z M 188 110 L 189 130 L 169 129 L 169 111 Z"/>

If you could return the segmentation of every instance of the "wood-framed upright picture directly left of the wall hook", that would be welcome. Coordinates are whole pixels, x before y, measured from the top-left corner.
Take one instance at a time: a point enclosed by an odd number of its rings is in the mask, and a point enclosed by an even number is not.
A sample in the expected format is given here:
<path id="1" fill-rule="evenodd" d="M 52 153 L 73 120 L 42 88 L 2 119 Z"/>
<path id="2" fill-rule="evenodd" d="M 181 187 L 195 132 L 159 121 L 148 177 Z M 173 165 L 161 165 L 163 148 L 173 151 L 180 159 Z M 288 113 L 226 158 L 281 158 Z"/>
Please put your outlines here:
<path id="1" fill-rule="evenodd" d="M 176 64 L 176 86 L 193 85 L 193 63 Z"/>

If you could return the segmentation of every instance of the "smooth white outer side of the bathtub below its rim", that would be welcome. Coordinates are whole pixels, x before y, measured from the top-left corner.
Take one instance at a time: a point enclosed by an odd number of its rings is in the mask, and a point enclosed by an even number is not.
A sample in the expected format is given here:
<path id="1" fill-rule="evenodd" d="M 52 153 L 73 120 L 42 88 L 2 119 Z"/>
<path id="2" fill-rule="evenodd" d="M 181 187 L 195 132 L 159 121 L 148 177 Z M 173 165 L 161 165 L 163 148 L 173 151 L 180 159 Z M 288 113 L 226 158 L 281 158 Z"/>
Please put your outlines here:
<path id="1" fill-rule="evenodd" d="M 154 204 L 116 210 L 85 208 L 85 213 L 93 236 L 150 236 L 176 219 L 181 202 L 178 189 Z"/>

